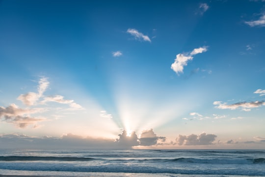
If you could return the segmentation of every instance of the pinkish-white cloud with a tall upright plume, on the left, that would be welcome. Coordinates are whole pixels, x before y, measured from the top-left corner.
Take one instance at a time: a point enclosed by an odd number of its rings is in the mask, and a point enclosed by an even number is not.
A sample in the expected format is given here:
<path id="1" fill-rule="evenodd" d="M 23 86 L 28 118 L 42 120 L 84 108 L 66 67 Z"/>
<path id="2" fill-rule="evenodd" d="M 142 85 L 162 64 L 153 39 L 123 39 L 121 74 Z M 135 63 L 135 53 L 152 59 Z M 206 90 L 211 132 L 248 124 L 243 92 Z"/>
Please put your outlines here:
<path id="1" fill-rule="evenodd" d="M 39 100 L 40 97 L 43 96 L 43 93 L 49 87 L 49 84 L 48 78 L 42 77 L 39 80 L 38 93 L 28 92 L 26 94 L 19 95 L 17 99 L 22 101 L 27 106 L 32 106 Z"/>

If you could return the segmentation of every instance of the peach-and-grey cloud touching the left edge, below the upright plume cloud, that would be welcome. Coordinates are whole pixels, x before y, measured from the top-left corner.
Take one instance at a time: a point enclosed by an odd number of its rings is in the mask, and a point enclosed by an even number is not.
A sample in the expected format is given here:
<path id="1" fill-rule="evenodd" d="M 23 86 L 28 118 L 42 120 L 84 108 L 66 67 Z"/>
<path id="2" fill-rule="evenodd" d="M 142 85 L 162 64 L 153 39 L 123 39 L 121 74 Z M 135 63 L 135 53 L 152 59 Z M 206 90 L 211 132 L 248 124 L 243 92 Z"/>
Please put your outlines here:
<path id="1" fill-rule="evenodd" d="M 12 123 L 20 128 L 25 128 L 30 124 L 36 124 L 39 121 L 44 121 L 45 118 L 34 118 L 31 114 L 43 112 L 44 109 L 21 109 L 17 105 L 11 104 L 4 108 L 0 107 L 0 120 Z"/>

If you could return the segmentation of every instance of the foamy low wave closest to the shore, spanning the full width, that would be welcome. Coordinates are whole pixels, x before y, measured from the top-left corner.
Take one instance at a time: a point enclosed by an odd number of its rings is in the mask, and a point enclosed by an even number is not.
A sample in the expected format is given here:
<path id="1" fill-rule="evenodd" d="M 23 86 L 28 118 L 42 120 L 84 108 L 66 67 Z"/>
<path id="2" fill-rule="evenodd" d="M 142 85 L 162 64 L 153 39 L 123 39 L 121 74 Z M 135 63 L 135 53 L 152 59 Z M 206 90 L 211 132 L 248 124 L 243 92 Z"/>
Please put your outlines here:
<path id="1" fill-rule="evenodd" d="M 102 173 L 171 173 L 171 174 L 193 174 L 193 175 L 239 175 L 239 176 L 265 176 L 265 171 L 260 169 L 200 169 L 200 168 L 168 168 L 141 165 L 104 164 L 104 165 L 74 165 L 74 164 L 50 164 L 50 163 L 0 163 L 0 169 L 26 170 L 26 171 L 56 171 L 56 172 L 102 172 Z"/>

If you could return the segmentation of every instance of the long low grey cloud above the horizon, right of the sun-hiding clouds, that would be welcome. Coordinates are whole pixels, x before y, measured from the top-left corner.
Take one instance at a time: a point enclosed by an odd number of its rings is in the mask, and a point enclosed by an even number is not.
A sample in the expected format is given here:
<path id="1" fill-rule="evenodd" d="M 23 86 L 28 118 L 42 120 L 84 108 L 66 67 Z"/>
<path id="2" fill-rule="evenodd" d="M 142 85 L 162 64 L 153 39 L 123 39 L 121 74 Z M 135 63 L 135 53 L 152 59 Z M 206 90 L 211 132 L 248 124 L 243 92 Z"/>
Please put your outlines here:
<path id="1" fill-rule="evenodd" d="M 214 134 L 206 134 L 201 133 L 200 135 L 179 135 L 176 138 L 176 142 L 178 145 L 186 145 L 186 146 L 197 146 L 197 145 L 212 145 L 212 142 L 215 141 L 217 136 Z"/>

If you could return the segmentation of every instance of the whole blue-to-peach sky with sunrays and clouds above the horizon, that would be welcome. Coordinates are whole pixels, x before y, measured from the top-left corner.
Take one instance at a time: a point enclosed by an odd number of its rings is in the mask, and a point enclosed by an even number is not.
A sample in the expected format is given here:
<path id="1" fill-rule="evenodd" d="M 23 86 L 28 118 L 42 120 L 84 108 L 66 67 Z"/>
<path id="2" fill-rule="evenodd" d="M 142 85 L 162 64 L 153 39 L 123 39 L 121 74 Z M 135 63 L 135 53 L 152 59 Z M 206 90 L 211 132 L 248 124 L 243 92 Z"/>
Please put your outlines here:
<path id="1" fill-rule="evenodd" d="M 265 148 L 265 0 L 0 0 L 0 148 Z"/>

